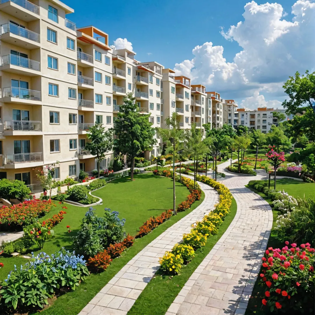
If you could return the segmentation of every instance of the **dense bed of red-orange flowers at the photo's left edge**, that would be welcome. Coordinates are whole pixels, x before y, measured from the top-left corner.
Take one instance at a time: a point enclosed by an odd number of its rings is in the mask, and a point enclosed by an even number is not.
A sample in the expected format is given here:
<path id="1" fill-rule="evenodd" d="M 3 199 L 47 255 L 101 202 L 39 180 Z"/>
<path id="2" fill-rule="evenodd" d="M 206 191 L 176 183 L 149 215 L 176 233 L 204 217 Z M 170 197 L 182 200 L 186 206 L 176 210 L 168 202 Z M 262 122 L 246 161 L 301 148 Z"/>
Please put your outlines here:
<path id="1" fill-rule="evenodd" d="M 0 208 L 0 231 L 22 231 L 23 226 L 30 224 L 51 210 L 50 200 L 31 199 L 10 207 Z"/>

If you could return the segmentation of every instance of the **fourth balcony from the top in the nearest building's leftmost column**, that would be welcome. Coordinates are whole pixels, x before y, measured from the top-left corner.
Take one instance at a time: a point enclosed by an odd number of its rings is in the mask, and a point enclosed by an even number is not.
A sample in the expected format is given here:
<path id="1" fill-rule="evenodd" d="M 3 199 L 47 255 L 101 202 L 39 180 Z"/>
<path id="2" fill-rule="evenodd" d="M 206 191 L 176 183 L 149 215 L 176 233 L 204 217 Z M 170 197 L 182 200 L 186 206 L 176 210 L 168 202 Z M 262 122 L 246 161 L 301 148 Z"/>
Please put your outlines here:
<path id="1" fill-rule="evenodd" d="M 38 104 L 41 101 L 41 92 L 8 87 L 3 88 L 2 98 L 4 103 Z"/>

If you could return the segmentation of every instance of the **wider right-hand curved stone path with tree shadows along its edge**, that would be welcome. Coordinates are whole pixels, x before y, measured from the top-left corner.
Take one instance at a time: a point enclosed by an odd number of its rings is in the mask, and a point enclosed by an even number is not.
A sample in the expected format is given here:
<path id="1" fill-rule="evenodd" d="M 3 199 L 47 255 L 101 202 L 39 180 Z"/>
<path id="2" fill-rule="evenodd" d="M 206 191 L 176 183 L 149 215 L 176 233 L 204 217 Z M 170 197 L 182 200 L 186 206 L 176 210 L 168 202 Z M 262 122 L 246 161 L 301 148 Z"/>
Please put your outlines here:
<path id="1" fill-rule="evenodd" d="M 218 166 L 222 172 L 230 161 Z M 223 171 L 224 172 L 224 171 Z M 248 188 L 249 180 L 224 172 L 237 203 L 237 213 L 226 232 L 186 282 L 166 315 L 244 314 L 272 228 L 269 204 Z"/>

